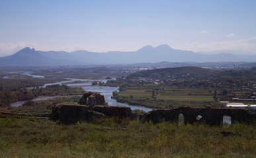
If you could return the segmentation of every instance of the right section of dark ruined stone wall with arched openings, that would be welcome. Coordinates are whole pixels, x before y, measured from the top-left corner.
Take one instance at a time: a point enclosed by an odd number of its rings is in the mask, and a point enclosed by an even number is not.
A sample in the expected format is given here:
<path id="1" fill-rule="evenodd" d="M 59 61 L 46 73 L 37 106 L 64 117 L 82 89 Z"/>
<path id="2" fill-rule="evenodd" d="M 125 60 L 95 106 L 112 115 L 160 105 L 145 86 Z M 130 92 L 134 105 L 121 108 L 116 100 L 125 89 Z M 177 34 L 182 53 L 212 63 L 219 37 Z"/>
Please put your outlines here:
<path id="1" fill-rule="evenodd" d="M 224 115 L 229 115 L 232 122 L 251 122 L 256 120 L 255 113 L 249 113 L 246 109 L 230 109 L 230 108 L 191 108 L 179 107 L 177 109 L 159 109 L 146 113 L 140 119 L 153 123 L 165 121 L 179 121 L 179 115 L 184 116 L 184 122 L 193 124 L 194 122 L 206 122 L 206 124 L 220 125 L 223 122 Z M 196 120 L 200 115 L 202 118 Z"/>

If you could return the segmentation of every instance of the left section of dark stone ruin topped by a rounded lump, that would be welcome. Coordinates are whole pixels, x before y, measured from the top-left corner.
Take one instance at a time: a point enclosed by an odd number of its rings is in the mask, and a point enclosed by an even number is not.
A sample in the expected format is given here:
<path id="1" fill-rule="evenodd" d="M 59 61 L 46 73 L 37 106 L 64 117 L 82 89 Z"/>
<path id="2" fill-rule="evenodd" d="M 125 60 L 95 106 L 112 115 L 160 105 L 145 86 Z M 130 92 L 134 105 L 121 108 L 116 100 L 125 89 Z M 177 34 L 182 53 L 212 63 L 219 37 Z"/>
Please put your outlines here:
<path id="1" fill-rule="evenodd" d="M 74 124 L 79 120 L 91 120 L 95 117 L 118 117 L 119 119 L 137 119 L 129 107 L 108 106 L 103 95 L 86 92 L 78 103 L 60 103 L 52 107 L 50 119 L 60 120 L 64 124 Z"/>

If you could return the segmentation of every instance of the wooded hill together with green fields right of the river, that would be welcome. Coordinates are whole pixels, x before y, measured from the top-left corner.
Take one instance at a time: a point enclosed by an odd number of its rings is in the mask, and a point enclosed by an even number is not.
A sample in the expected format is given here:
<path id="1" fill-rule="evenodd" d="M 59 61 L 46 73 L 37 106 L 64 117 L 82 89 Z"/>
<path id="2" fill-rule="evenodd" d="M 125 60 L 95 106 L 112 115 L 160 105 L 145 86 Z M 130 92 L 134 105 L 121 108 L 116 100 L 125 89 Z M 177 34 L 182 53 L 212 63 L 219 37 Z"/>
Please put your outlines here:
<path id="1" fill-rule="evenodd" d="M 256 68 L 210 70 L 189 66 L 140 71 L 109 80 L 107 85 L 120 87 L 113 97 L 122 103 L 153 108 L 216 107 L 219 101 L 232 101 L 234 97 L 256 97 L 255 78 Z"/>

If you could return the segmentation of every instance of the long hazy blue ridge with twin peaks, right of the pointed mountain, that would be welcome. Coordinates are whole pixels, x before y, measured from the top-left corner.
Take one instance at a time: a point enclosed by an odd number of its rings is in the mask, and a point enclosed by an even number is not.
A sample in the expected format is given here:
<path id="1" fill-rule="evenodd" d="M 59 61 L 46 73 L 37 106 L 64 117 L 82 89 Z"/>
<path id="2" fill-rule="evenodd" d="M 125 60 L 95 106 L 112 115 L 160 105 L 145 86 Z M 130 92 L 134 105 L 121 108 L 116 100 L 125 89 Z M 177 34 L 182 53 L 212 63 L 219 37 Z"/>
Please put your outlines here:
<path id="1" fill-rule="evenodd" d="M 158 47 L 151 47 L 146 45 L 138 51 L 108 51 L 107 53 L 94 53 L 89 51 L 74 51 L 67 53 L 65 51 L 38 51 L 45 57 L 53 59 L 65 59 L 69 61 L 76 61 L 79 64 L 89 65 L 106 65 L 106 64 L 134 64 L 134 63 L 159 63 L 167 62 L 254 62 L 256 56 L 247 57 L 233 55 L 230 53 L 220 53 L 206 55 L 201 53 L 194 53 L 192 51 L 183 51 L 173 49 L 167 44 L 159 45 Z"/>

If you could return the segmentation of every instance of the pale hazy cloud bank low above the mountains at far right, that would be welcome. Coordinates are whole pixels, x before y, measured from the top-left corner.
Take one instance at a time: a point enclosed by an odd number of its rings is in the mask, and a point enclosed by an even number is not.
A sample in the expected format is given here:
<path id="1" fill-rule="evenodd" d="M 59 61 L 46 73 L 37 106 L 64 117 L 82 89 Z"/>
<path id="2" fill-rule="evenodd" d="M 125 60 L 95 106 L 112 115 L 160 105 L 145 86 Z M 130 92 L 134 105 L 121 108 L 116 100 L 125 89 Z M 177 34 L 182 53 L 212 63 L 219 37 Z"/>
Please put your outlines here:
<path id="1" fill-rule="evenodd" d="M 173 46 L 175 49 L 189 51 L 219 51 L 219 50 L 243 50 L 256 53 L 256 37 L 234 41 L 221 41 L 211 43 L 184 43 Z"/>

